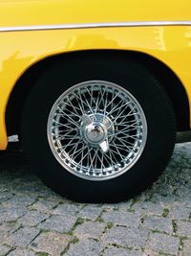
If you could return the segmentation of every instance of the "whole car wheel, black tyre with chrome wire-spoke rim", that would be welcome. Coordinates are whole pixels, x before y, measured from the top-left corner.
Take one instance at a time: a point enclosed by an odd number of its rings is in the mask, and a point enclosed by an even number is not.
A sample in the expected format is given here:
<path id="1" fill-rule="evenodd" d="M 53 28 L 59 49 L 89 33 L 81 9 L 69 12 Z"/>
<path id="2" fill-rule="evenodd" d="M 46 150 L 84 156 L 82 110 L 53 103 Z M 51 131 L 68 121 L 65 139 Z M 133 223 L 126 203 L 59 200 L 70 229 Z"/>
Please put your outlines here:
<path id="1" fill-rule="evenodd" d="M 53 62 L 26 101 L 21 134 L 31 170 L 77 201 L 138 195 L 173 152 L 171 101 L 134 59 L 103 51 L 75 57 Z"/>

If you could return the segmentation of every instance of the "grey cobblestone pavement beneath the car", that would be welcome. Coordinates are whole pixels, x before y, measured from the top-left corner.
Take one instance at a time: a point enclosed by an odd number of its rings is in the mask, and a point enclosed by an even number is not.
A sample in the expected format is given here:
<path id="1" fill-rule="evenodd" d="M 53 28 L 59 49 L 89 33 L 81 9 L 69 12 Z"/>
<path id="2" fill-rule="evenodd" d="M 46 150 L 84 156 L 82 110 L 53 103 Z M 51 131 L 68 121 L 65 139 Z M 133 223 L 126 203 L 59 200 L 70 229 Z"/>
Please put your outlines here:
<path id="1" fill-rule="evenodd" d="M 152 189 L 113 204 L 76 203 L 0 154 L 0 255 L 191 256 L 191 143 L 177 145 Z"/>

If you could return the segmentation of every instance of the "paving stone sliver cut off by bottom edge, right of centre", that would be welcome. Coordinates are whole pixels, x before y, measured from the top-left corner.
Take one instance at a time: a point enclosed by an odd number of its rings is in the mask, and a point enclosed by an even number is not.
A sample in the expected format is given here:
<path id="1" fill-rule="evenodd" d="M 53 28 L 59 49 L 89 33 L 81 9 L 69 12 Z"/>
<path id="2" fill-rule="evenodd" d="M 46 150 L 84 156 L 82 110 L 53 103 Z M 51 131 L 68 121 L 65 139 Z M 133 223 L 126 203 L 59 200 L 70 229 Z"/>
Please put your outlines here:
<path id="1" fill-rule="evenodd" d="M 103 256 L 147 256 L 146 254 L 137 251 L 137 250 L 129 250 L 124 248 L 106 248 L 102 254 Z"/>

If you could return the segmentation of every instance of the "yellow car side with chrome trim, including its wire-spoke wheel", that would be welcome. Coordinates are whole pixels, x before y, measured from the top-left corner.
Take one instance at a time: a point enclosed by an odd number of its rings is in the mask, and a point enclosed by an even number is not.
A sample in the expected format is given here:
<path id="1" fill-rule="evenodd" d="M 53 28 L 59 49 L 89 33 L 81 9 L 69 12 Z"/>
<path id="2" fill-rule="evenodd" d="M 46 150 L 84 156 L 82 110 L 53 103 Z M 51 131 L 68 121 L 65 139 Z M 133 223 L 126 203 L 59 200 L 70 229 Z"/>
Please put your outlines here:
<path id="1" fill-rule="evenodd" d="M 190 130 L 191 1 L 1 0 L 0 150 L 81 200 L 137 194 Z"/>

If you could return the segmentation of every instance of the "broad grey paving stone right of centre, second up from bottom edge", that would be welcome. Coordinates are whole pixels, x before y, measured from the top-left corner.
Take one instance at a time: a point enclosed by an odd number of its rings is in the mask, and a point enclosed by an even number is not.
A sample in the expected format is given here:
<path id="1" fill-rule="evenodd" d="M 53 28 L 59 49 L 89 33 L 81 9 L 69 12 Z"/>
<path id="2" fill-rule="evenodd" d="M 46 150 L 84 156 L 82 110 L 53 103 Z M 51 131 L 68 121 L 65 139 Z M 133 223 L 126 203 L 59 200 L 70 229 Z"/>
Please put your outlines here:
<path id="1" fill-rule="evenodd" d="M 146 243 L 149 232 L 136 228 L 116 226 L 103 236 L 103 243 L 141 248 Z"/>

